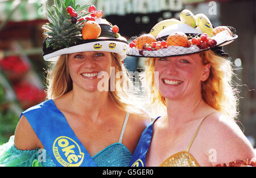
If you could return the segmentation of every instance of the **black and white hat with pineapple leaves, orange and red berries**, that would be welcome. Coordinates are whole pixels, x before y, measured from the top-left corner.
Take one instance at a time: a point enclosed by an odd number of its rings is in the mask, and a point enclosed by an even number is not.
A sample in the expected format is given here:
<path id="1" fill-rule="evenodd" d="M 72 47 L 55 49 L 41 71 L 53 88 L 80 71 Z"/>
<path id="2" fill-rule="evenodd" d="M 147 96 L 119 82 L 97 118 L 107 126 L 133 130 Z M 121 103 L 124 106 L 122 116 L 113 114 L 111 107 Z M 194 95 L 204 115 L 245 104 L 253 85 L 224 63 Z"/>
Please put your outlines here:
<path id="1" fill-rule="evenodd" d="M 103 12 L 93 5 L 76 5 L 76 0 L 55 0 L 47 9 L 49 23 L 42 28 L 46 39 L 43 58 L 57 61 L 61 54 L 86 51 L 117 53 L 126 57 L 127 40 L 119 35 L 119 28 L 102 19 Z"/>

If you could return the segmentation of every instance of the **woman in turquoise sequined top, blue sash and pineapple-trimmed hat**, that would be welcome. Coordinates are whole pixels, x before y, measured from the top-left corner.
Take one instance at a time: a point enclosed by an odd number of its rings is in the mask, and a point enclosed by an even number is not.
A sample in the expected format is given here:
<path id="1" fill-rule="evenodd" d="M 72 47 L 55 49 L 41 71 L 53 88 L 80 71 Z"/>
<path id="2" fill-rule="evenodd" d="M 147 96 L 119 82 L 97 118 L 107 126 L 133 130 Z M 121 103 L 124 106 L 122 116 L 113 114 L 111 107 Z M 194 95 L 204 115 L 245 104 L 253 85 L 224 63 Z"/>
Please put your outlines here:
<path id="1" fill-rule="evenodd" d="M 81 12 L 77 8 L 82 6 L 67 2 L 55 1 L 55 6 Z M 65 20 L 74 20 L 67 16 Z M 48 12 L 51 23 L 44 28 L 53 28 L 52 18 Z M 47 76 L 48 100 L 22 113 L 15 137 L 0 146 L 1 166 L 129 166 L 150 118 L 123 89 L 130 86 L 122 64 L 127 41 L 105 19 L 95 20 L 101 35 L 73 39 L 68 47 L 51 46 L 48 33 L 43 56 L 55 61 Z M 122 73 L 122 80 L 117 73 Z"/>

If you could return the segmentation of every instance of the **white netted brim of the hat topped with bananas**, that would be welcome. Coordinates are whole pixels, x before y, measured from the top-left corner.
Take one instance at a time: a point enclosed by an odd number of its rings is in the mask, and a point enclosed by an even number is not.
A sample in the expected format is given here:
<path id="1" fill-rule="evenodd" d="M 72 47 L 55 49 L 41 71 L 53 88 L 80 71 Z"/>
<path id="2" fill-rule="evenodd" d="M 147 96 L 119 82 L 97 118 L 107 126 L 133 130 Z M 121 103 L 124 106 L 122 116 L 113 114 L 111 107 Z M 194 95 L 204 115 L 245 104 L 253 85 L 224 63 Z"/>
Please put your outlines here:
<path id="1" fill-rule="evenodd" d="M 227 31 L 222 31 L 212 37 L 212 39 L 216 40 L 217 42 L 217 44 L 212 48 L 208 47 L 205 49 L 200 49 L 197 45 L 191 45 L 190 47 L 170 45 L 167 48 L 162 48 L 158 50 L 141 50 L 135 47 L 130 48 L 130 46 L 128 46 L 126 54 L 127 56 L 135 56 L 135 57 L 159 58 L 159 57 L 184 56 L 184 55 L 204 52 L 205 50 L 213 50 L 213 51 L 215 50 L 217 52 L 218 50 L 219 51 L 221 50 L 222 46 L 232 43 L 235 39 L 237 39 L 237 37 L 238 37 L 237 35 L 230 36 Z M 222 50 L 221 52 L 224 54 Z M 228 54 L 225 53 L 225 55 L 228 55 Z"/>

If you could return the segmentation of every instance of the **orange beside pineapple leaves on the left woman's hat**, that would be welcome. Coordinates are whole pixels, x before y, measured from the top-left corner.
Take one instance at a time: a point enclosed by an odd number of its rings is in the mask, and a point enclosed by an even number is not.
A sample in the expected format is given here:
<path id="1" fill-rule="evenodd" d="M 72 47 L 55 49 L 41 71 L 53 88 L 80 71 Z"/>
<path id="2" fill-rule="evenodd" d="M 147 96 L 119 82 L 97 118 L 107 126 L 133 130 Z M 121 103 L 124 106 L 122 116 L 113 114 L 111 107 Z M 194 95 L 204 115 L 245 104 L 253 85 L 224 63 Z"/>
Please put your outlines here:
<path id="1" fill-rule="evenodd" d="M 82 27 L 82 39 L 96 39 L 101 35 L 101 27 L 97 22 L 92 20 L 87 21 Z"/>

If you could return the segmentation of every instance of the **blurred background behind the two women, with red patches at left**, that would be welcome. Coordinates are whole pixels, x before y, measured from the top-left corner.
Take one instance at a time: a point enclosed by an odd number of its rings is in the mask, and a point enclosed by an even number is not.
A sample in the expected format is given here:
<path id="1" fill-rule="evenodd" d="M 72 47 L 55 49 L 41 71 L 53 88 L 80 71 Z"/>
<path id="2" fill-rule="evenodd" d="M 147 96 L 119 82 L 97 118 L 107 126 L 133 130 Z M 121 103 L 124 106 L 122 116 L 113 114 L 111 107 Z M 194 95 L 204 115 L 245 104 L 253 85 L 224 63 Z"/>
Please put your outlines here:
<path id="1" fill-rule="evenodd" d="M 130 39 L 164 19 L 179 19 L 179 12 L 208 16 L 214 27 L 237 29 L 238 39 L 224 46 L 234 67 L 234 82 L 240 90 L 238 125 L 256 147 L 256 5 L 255 0 L 94 0 L 79 1 L 103 10 Z M 20 113 L 46 99 L 46 69 L 42 57 L 42 25 L 47 23 L 46 7 L 53 0 L 0 0 L 0 145 L 14 134 Z M 143 59 L 127 57 L 132 71 L 143 70 Z"/>

